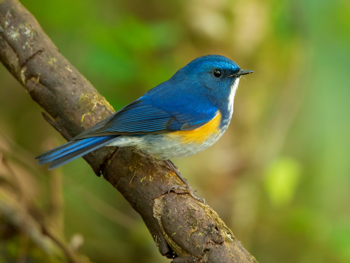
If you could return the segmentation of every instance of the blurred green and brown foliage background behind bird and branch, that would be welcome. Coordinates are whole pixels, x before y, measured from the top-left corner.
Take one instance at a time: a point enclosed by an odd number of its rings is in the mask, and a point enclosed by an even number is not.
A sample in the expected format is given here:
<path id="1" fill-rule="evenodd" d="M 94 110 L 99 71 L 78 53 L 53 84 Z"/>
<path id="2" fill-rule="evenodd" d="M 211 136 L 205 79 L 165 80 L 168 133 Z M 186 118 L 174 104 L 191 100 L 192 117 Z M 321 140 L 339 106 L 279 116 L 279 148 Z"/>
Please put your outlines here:
<path id="1" fill-rule="evenodd" d="M 114 109 L 205 54 L 254 70 L 221 140 L 173 161 L 260 263 L 350 262 L 349 1 L 21 2 Z M 64 140 L 2 65 L 0 80 L 0 204 L 11 185 L 94 262 L 170 262 L 83 159 L 36 165 Z M 4 207 L 0 262 L 59 262 Z"/>

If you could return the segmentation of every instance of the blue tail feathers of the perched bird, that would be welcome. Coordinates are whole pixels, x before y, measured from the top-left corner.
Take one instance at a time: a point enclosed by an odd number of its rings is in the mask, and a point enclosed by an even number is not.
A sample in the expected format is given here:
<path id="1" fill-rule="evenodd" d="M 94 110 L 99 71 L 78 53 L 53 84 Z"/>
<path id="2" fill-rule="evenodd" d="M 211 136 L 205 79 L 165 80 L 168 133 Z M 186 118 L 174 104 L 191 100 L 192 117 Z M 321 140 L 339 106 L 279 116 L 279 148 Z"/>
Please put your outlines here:
<path id="1" fill-rule="evenodd" d="M 112 142 L 118 135 L 90 137 L 72 140 L 54 149 L 51 149 L 37 157 L 39 164 L 50 163 L 49 170 L 83 156 Z"/>

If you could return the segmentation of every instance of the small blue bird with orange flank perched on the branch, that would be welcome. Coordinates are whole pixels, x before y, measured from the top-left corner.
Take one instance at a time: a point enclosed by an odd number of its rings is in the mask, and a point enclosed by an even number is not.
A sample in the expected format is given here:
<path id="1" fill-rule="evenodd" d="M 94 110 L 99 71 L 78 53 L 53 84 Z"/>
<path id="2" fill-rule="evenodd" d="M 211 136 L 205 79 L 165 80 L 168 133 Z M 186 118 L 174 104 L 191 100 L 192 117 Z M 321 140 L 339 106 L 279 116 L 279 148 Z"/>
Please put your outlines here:
<path id="1" fill-rule="evenodd" d="M 225 56 L 201 56 L 70 142 L 35 159 L 54 169 L 103 146 L 133 146 L 163 160 L 189 187 L 170 159 L 196 154 L 223 135 L 240 77 L 250 73 Z"/>

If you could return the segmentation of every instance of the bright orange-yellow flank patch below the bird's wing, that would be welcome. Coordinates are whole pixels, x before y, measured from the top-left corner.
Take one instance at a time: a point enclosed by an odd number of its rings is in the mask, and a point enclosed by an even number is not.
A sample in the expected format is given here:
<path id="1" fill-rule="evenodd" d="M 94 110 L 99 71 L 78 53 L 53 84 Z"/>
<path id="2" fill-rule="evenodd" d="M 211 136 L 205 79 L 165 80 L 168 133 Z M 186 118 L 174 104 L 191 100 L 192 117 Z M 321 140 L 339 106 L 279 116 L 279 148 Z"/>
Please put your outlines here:
<path id="1" fill-rule="evenodd" d="M 169 134 L 171 137 L 179 136 L 183 143 L 201 144 L 213 135 L 220 133 L 219 126 L 221 122 L 221 113 L 217 112 L 216 116 L 209 122 L 194 130 L 179 130 Z"/>

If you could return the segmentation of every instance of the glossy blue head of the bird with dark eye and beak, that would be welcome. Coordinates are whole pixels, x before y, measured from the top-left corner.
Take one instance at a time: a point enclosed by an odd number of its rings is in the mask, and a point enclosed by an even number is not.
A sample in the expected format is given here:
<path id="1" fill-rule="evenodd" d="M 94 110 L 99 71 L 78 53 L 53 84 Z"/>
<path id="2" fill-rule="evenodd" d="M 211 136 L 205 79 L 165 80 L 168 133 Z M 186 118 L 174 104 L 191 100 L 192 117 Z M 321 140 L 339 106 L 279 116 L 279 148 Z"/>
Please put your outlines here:
<path id="1" fill-rule="evenodd" d="M 213 100 L 229 99 L 235 94 L 242 75 L 252 73 L 251 70 L 241 70 L 232 60 L 220 55 L 207 55 L 197 58 L 181 68 L 170 79 L 194 82 L 204 87 L 208 98 Z M 197 83 L 196 83 L 197 82 Z"/>

